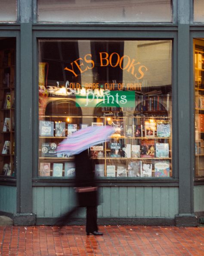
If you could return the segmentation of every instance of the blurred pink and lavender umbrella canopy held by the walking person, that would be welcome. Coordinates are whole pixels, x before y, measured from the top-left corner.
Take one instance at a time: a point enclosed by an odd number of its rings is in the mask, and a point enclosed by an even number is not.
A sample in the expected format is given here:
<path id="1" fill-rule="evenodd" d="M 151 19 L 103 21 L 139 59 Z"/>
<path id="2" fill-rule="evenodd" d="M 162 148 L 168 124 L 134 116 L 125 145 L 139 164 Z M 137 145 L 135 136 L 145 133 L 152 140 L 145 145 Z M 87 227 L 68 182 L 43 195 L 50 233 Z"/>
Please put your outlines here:
<path id="1" fill-rule="evenodd" d="M 100 144 L 114 133 L 114 128 L 109 125 L 88 126 L 74 132 L 70 137 L 59 143 L 57 152 L 75 155 L 89 147 Z"/>

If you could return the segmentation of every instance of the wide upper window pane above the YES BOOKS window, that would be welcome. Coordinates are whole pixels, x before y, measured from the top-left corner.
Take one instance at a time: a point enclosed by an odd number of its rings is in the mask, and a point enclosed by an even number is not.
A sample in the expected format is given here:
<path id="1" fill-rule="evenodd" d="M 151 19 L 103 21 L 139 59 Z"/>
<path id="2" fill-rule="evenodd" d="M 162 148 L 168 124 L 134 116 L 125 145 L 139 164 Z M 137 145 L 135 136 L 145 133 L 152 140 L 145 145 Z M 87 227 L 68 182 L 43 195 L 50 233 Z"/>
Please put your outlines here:
<path id="1" fill-rule="evenodd" d="M 172 22 L 171 2 L 171 0 L 38 0 L 38 21 Z"/>

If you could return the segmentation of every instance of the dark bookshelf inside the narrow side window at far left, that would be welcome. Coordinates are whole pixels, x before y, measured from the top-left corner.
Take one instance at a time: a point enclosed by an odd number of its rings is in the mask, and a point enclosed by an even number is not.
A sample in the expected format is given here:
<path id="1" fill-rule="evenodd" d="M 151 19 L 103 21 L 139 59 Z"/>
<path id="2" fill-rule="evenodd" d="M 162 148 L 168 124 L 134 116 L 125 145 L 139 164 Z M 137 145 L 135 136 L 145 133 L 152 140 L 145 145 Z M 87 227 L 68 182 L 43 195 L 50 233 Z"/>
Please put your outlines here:
<path id="1" fill-rule="evenodd" d="M 0 176 L 15 176 L 14 124 L 15 46 L 0 47 Z"/>

